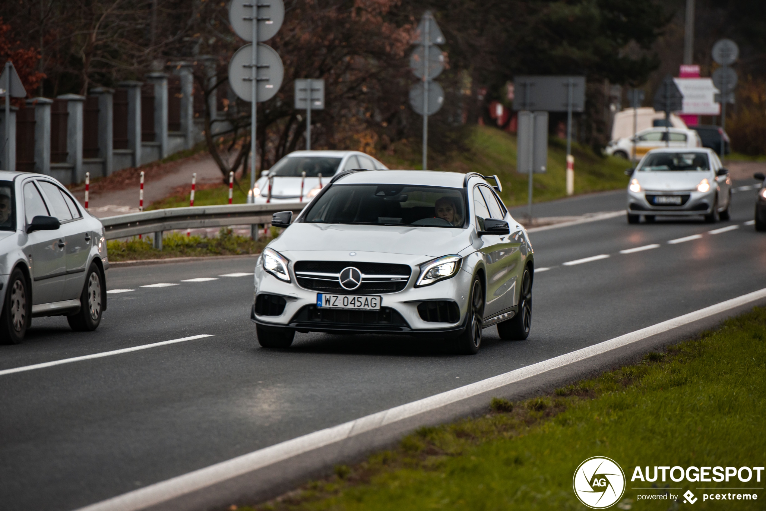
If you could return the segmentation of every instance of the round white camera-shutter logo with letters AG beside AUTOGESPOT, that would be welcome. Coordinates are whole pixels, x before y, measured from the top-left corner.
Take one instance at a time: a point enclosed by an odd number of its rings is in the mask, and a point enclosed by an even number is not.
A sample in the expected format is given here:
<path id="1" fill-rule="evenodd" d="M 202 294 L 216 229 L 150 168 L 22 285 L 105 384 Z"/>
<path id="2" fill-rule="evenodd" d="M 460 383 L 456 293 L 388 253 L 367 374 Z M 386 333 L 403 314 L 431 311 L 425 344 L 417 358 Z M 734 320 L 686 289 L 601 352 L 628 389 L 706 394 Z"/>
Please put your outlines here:
<path id="1" fill-rule="evenodd" d="M 625 493 L 625 473 L 616 461 L 594 456 L 577 467 L 572 488 L 585 506 L 604 509 L 617 503 Z"/>

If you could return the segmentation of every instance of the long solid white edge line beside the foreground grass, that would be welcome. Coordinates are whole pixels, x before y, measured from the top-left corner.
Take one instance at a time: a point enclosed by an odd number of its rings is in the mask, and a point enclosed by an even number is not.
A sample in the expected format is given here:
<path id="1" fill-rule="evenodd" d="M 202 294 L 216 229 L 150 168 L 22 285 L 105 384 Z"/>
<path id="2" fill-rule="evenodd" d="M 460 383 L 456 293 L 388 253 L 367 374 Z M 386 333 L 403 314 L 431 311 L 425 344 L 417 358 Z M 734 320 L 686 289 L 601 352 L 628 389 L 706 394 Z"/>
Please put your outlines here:
<path id="1" fill-rule="evenodd" d="M 245 473 L 268 467 L 288 460 L 299 454 L 307 453 L 310 450 L 318 449 L 329 444 L 343 441 L 347 438 L 355 437 L 358 434 L 374 431 L 378 427 L 387 424 L 402 421 L 428 411 L 434 411 L 438 408 L 451 405 L 466 398 L 493 391 L 506 385 L 520 382 L 532 376 L 541 375 L 544 372 L 551 371 L 589 359 L 595 355 L 601 355 L 611 352 L 614 349 L 620 349 L 633 342 L 638 342 L 650 336 L 656 336 L 659 333 L 667 332 L 679 326 L 688 325 L 699 319 L 705 319 L 715 314 L 724 313 L 735 307 L 747 305 L 755 300 L 766 298 L 766 289 L 754 291 L 732 300 L 716 303 L 715 305 L 696 310 L 693 313 L 684 314 L 673 319 L 668 319 L 656 325 L 630 332 L 624 336 L 615 337 L 608 341 L 599 342 L 593 346 L 575 350 L 574 352 L 558 355 L 552 359 L 527 365 L 515 371 L 506 372 L 502 375 L 493 376 L 486 380 L 480 380 L 470 385 L 454 388 L 453 390 L 432 395 L 418 401 L 412 401 L 405 405 L 399 405 L 388 410 L 378 411 L 375 414 L 358 418 L 337 426 L 328 427 L 313 433 L 305 434 L 302 437 L 296 437 L 292 440 L 264 447 L 248 454 L 232 458 L 231 460 L 221 461 L 221 463 L 201 468 L 193 472 L 185 473 L 178 477 L 154 483 L 149 486 L 133 490 L 123 495 L 102 500 L 101 502 L 91 504 L 78 509 L 77 511 L 137 511 L 168 500 L 186 495 L 198 490 L 202 490 L 216 483 L 234 479 Z"/>

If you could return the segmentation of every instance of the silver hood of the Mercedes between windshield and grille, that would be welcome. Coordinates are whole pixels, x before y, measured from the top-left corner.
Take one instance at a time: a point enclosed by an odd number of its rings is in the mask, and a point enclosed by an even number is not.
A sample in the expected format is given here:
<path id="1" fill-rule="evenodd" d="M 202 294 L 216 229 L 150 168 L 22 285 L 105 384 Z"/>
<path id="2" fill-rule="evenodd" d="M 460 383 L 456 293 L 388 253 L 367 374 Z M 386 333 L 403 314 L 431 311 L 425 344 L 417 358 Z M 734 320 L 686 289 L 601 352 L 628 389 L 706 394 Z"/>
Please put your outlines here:
<path id="1" fill-rule="evenodd" d="M 300 222 L 290 225 L 269 247 L 294 259 L 297 254 L 290 257 L 288 253 L 335 251 L 348 255 L 355 251 L 440 257 L 457 254 L 469 245 L 469 229 Z"/>

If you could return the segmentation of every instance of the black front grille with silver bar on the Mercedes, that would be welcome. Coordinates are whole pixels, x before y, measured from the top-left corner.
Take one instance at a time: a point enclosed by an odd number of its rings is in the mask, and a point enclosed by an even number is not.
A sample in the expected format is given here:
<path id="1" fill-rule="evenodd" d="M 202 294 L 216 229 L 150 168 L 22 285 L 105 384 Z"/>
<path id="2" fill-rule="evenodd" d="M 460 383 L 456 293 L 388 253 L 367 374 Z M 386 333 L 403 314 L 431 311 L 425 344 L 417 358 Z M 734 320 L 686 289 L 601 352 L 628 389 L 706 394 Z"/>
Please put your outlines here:
<path id="1" fill-rule="evenodd" d="M 349 266 L 362 272 L 362 284 L 355 290 L 343 288 L 338 280 L 338 274 Z M 412 274 L 406 264 L 336 260 L 299 260 L 293 270 L 300 287 L 320 293 L 396 293 L 407 286 Z"/>

